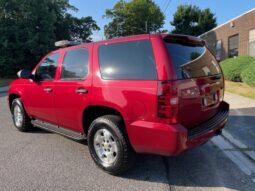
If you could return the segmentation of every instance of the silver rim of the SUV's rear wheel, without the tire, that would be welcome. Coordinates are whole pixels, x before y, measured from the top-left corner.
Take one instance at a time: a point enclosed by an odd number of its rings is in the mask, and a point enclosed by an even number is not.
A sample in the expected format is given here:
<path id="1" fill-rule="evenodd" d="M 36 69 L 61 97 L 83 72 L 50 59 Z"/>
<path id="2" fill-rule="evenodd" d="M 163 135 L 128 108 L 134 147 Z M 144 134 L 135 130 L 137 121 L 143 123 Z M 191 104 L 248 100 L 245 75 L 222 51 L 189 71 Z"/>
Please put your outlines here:
<path id="1" fill-rule="evenodd" d="M 114 163 L 118 156 L 116 139 L 107 129 L 99 129 L 94 136 L 94 149 L 98 158 L 109 166 Z"/>

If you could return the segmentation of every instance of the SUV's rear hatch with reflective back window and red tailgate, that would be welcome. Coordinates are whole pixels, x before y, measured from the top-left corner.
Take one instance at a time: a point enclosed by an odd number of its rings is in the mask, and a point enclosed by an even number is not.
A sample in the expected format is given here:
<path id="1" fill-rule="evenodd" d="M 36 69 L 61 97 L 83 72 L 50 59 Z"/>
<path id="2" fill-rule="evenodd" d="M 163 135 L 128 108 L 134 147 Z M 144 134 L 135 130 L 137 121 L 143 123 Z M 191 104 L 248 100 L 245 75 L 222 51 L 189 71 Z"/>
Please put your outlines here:
<path id="1" fill-rule="evenodd" d="M 222 70 L 204 41 L 189 36 L 164 38 L 176 77 L 178 123 L 195 127 L 219 110 L 224 93 Z"/>

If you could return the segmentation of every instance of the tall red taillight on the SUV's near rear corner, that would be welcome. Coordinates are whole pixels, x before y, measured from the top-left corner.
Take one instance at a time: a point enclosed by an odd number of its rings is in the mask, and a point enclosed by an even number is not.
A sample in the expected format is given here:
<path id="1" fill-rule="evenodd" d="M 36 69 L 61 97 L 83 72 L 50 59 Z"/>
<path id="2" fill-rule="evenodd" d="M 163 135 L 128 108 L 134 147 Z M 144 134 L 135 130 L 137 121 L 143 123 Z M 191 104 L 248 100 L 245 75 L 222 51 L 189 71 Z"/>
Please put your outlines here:
<path id="1" fill-rule="evenodd" d="M 158 117 L 165 123 L 176 124 L 178 114 L 178 91 L 174 82 L 158 82 Z"/>

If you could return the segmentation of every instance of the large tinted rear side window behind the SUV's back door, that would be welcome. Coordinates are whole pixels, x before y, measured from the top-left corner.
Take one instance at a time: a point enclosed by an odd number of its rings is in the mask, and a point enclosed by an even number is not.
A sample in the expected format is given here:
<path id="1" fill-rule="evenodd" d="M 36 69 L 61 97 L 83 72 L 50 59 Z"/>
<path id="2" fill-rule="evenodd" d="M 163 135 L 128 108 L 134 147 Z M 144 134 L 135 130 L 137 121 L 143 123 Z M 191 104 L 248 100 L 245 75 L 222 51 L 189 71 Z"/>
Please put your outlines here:
<path id="1" fill-rule="evenodd" d="M 107 80 L 155 80 L 155 60 L 149 40 L 99 47 L 100 72 Z"/>

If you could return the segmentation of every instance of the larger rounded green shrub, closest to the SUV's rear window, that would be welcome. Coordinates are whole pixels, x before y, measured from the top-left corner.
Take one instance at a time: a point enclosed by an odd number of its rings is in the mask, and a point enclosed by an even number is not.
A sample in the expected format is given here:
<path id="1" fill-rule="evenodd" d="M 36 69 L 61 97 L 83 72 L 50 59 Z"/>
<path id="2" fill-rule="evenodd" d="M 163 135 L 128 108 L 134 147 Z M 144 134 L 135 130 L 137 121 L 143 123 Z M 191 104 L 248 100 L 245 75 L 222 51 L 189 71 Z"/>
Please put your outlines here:
<path id="1" fill-rule="evenodd" d="M 241 73 L 252 62 L 255 62 L 255 58 L 251 56 L 239 56 L 236 58 L 229 58 L 221 62 L 221 67 L 225 76 L 225 79 L 241 82 Z"/>

